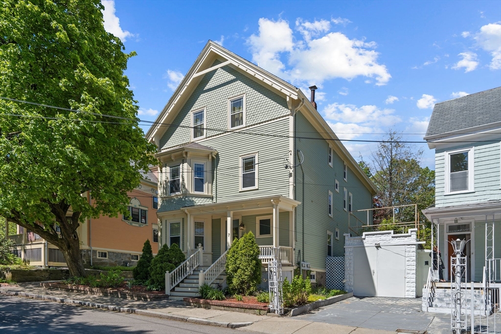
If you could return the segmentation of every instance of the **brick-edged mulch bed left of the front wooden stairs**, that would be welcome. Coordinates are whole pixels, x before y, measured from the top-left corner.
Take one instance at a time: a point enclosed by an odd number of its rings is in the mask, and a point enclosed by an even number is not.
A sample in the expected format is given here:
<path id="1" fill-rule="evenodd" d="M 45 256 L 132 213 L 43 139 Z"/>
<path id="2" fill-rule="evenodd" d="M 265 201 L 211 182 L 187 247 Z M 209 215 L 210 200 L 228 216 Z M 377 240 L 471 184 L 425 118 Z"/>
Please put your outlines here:
<path id="1" fill-rule="evenodd" d="M 40 285 L 49 289 L 85 292 L 88 294 L 114 296 L 134 300 L 156 300 L 169 297 L 164 291 L 147 291 L 146 286 L 142 285 L 134 285 L 129 289 L 125 283 L 113 288 L 89 287 L 87 285 L 74 284 L 68 285 L 64 283 L 40 283 Z"/>

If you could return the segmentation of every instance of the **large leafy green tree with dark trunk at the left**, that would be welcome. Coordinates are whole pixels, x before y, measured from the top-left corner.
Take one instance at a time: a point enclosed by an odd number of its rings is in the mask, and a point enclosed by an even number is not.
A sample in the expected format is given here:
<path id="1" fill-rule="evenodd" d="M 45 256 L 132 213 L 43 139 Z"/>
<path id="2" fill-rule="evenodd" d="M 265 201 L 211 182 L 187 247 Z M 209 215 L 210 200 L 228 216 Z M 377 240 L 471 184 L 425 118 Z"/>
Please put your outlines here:
<path id="1" fill-rule="evenodd" d="M 127 191 L 155 163 L 124 76 L 134 53 L 104 30 L 103 9 L 0 0 L 0 97 L 78 110 L 0 99 L 0 215 L 58 246 L 76 276 L 79 224 L 125 213 Z"/>

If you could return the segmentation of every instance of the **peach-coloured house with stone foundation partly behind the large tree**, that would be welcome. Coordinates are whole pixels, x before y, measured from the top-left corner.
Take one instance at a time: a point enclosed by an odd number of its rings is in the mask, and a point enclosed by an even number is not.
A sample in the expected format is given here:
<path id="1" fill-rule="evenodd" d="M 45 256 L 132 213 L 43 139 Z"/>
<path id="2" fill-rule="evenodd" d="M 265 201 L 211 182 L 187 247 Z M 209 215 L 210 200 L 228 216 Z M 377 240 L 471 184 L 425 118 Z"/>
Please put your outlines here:
<path id="1" fill-rule="evenodd" d="M 128 217 L 100 216 L 86 219 L 77 229 L 80 251 L 86 267 L 91 265 L 134 266 L 146 239 L 153 254 L 158 252 L 158 172 L 157 167 L 144 174 L 139 186 L 129 192 Z M 86 194 L 87 198 L 89 194 Z M 62 252 L 38 234 L 18 226 L 10 235 L 16 243 L 13 252 L 30 260 L 31 265 L 66 266 Z M 92 254 L 92 256 L 91 256 Z"/>

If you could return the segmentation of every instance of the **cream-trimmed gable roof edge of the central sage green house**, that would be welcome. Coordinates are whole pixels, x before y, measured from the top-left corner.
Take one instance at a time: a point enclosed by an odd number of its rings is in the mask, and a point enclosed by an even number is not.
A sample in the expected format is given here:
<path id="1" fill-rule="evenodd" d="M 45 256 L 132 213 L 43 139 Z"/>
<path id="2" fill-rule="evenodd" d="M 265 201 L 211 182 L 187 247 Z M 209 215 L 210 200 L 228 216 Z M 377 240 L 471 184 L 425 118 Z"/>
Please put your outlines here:
<path id="1" fill-rule="evenodd" d="M 221 63 L 212 66 L 215 60 L 219 60 Z M 318 129 L 319 133 L 327 141 L 333 143 L 335 151 L 337 151 L 342 158 L 346 158 L 348 165 L 353 171 L 355 171 L 371 193 L 373 195 L 376 194 L 377 189 L 375 185 L 367 177 L 365 172 L 360 168 L 346 147 L 344 147 L 339 138 L 332 131 L 331 127 L 299 88 L 241 58 L 240 56 L 235 55 L 212 41 L 208 41 L 203 50 L 200 52 L 188 73 L 184 76 L 183 80 L 172 94 L 172 97 L 158 115 L 155 123 L 146 133 L 146 139 L 150 142 L 155 142 L 157 146 L 159 146 L 160 138 L 168 128 L 168 126 L 165 125 L 168 125 L 170 121 L 174 119 L 196 86 L 200 83 L 203 75 L 223 66 L 229 66 L 239 71 L 248 78 L 253 79 L 287 99 L 289 109 L 294 111 L 303 111 L 310 123 Z"/>

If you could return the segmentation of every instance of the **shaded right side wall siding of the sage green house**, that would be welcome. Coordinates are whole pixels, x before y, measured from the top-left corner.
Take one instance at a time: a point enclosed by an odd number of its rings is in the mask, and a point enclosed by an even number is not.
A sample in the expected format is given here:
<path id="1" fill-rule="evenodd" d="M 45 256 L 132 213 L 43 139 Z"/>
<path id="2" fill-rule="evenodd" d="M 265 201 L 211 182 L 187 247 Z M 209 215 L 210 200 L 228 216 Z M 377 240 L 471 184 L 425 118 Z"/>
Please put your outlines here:
<path id="1" fill-rule="evenodd" d="M 309 137 L 321 138 L 321 135 L 301 114 L 296 115 L 296 131 L 308 133 Z M 343 179 L 343 159 L 333 152 L 333 166 L 328 164 L 329 143 L 325 140 L 296 139 L 296 149 L 301 150 L 305 159 L 305 198 L 302 198 L 302 171 L 296 168 L 296 200 L 302 202 L 297 208 L 296 258 L 300 256 L 304 235 L 305 261 L 314 269 L 325 269 L 327 256 L 327 231 L 335 233 L 339 229 L 339 240 L 334 239 L 334 256 L 344 256 L 344 233 L 348 233 L 348 212 L 343 209 L 343 188 L 353 194 L 353 211 L 372 207 L 370 190 L 353 171 L 348 168 L 347 181 Z M 335 190 L 335 181 L 339 182 L 339 192 Z M 333 216 L 328 214 L 328 193 L 333 194 Z M 302 215 L 305 210 L 303 233 Z M 355 213 L 366 221 L 367 214 Z M 303 257 L 303 254 L 301 254 Z"/>

